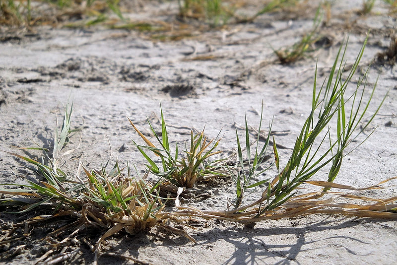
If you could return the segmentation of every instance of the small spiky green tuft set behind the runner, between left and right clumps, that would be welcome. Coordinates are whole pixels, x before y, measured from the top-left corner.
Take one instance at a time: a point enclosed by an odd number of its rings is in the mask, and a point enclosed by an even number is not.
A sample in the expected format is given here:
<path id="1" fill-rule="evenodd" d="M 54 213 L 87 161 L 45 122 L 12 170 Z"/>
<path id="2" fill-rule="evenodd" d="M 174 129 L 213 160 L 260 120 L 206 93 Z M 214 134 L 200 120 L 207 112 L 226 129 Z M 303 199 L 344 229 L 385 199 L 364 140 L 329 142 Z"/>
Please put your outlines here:
<path id="1" fill-rule="evenodd" d="M 214 168 L 214 166 L 212 166 L 214 161 L 208 161 L 209 157 L 222 152 L 220 150 L 214 151 L 218 146 L 220 139 L 208 140 L 207 137 L 204 136 L 204 130 L 197 134 L 194 134 L 193 131 L 191 131 L 191 137 L 189 141 L 190 145 L 189 147 L 185 147 L 184 151 L 185 157 L 179 159 L 178 144 L 176 144 L 175 153 L 171 152 L 167 126 L 165 124 L 162 109 L 161 139 L 160 136 L 154 131 L 149 120 L 147 120 L 151 132 L 157 139 L 157 142 L 160 146 L 158 148 L 142 133 L 139 132 L 130 119 L 129 121 L 134 130 L 147 145 L 138 145 L 135 141 L 133 141 L 133 143 L 149 163 L 147 165 L 149 170 L 160 177 L 159 181 L 168 180 L 171 184 L 192 188 L 196 181 L 200 179 L 205 179 L 207 176 L 221 174 L 220 172 L 212 171 L 211 169 Z M 161 165 L 155 163 L 143 149 L 150 150 L 154 155 L 159 157 L 161 159 Z M 162 167 L 162 169 L 160 169 L 160 167 Z"/>

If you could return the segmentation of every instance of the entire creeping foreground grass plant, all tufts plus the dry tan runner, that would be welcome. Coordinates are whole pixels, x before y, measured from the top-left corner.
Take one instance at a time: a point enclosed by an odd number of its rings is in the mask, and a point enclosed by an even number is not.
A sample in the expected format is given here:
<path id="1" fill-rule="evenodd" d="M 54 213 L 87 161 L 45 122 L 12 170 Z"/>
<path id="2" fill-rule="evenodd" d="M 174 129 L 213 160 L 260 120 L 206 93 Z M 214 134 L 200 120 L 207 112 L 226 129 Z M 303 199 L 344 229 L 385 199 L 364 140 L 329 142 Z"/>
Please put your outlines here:
<path id="1" fill-rule="evenodd" d="M 136 142 L 134 144 L 147 160 L 147 170 L 159 177 L 157 182 L 147 181 L 149 172 L 143 177 L 140 177 L 138 173 L 132 175 L 129 164 L 127 163 L 125 168 L 120 168 L 118 161 L 111 170 L 108 170 L 109 161 L 101 170 L 88 170 L 80 163 L 77 175 L 79 176 L 80 171 L 83 171 L 85 177 L 78 178 L 78 181 L 68 178 L 67 174 L 58 168 L 58 161 L 73 151 L 69 150 L 61 154 L 69 137 L 75 132 L 70 127 L 71 108 L 66 107 L 62 128 L 59 131 L 57 129 L 55 133 L 51 156 L 48 154 L 48 150 L 42 147 L 36 148 L 44 152 L 45 158 L 40 162 L 10 153 L 27 162 L 30 166 L 26 166 L 42 180 L 27 181 L 28 184 L 25 185 L 14 185 L 23 186 L 25 189 L 0 189 L 0 193 L 6 195 L 1 198 L 0 202 L 9 210 L 16 207 L 19 210 L 16 213 L 22 213 L 40 207 L 50 209 L 52 214 L 35 216 L 22 223 L 14 224 L 10 229 L 3 231 L 0 245 L 4 242 L 18 240 L 21 235 L 18 236 L 20 232 L 17 233 L 17 231 L 20 228 L 24 228 L 23 233 L 27 235 L 30 233 L 30 225 L 43 225 L 44 221 L 66 216 L 69 220 L 67 224 L 50 234 L 53 240 L 61 235 L 64 236 L 63 239 L 52 243 L 53 248 L 39 261 L 53 262 L 55 256 L 52 258 L 51 255 L 59 253 L 69 244 L 69 241 L 81 239 L 80 232 L 90 227 L 103 231 L 102 235 L 96 239 L 95 246 L 92 247 L 92 250 L 99 255 L 101 243 L 123 229 L 127 233 L 135 234 L 151 227 L 161 227 L 173 233 L 185 235 L 195 242 L 187 231 L 176 226 L 182 224 L 185 227 L 191 227 L 189 225 L 191 220 L 223 219 L 253 225 L 266 219 L 318 213 L 397 219 L 397 204 L 395 203 L 397 197 L 376 199 L 331 191 L 331 189 L 355 191 L 379 189 L 378 185 L 397 178 L 390 178 L 377 185 L 362 189 L 333 183 L 339 173 L 344 156 L 352 151 L 347 147 L 368 128 L 382 105 L 381 103 L 368 119 L 364 119 L 376 88 L 375 85 L 367 95 L 368 72 L 359 76 L 353 93 L 346 96 L 348 84 L 355 76 L 364 48 L 365 43 L 359 51 L 356 61 L 350 70 L 347 70 L 344 65 L 347 47 L 341 47 L 328 79 L 324 80 L 320 88 L 317 87 L 316 69 L 312 109 L 296 138 L 292 154 L 285 167 L 280 168 L 277 145 L 275 139 L 272 139 L 274 165 L 278 174 L 268 182 L 262 196 L 249 204 L 243 203 L 245 191 L 268 181 L 261 180 L 251 183 L 254 176 L 258 177 L 264 171 L 259 165 L 264 161 L 270 144 L 271 125 L 264 145 L 259 146 L 260 135 L 258 135 L 256 147 L 252 149 L 250 131 L 247 121 L 245 122 L 245 152 L 243 152 L 244 148 L 236 132 L 238 162 L 228 164 L 228 161 L 223 161 L 224 166 L 221 167 L 222 174 L 229 175 L 236 183 L 236 201 L 234 209 L 228 208 L 224 211 L 202 211 L 179 203 L 176 203 L 176 208 L 166 209 L 167 200 L 178 201 L 178 196 L 184 190 L 183 187 L 192 187 L 199 178 L 219 174 L 215 170 L 216 167 L 219 169 L 219 161 L 211 161 L 210 158 L 219 153 L 219 151 L 215 151 L 215 148 L 220 139 L 207 140 L 203 132 L 198 134 L 192 132 L 190 145 L 185 148 L 185 157 L 179 158 L 178 145 L 176 145 L 175 152 L 171 152 L 162 109 L 161 137 L 148 123 L 158 142 L 157 147 L 140 133 L 130 120 L 136 133 L 146 143 L 146 145 L 138 145 Z M 369 99 L 366 99 L 367 103 L 364 103 L 366 96 L 369 96 Z M 258 132 L 261 131 L 261 126 L 262 115 Z M 159 158 L 161 164 L 150 158 L 149 153 L 153 153 Z M 327 181 L 313 180 L 320 170 L 324 171 L 327 167 Z M 133 168 L 138 172 L 135 166 Z M 176 198 L 161 198 L 159 195 L 160 185 L 177 185 L 179 188 Z M 302 190 L 302 187 L 307 188 L 308 185 L 321 187 L 321 189 L 306 194 L 298 192 Z M 12 185 L 7 184 L 7 186 Z M 359 200 L 372 200 L 373 203 L 363 204 L 359 203 Z M 20 206 L 21 204 L 22 206 Z"/>

